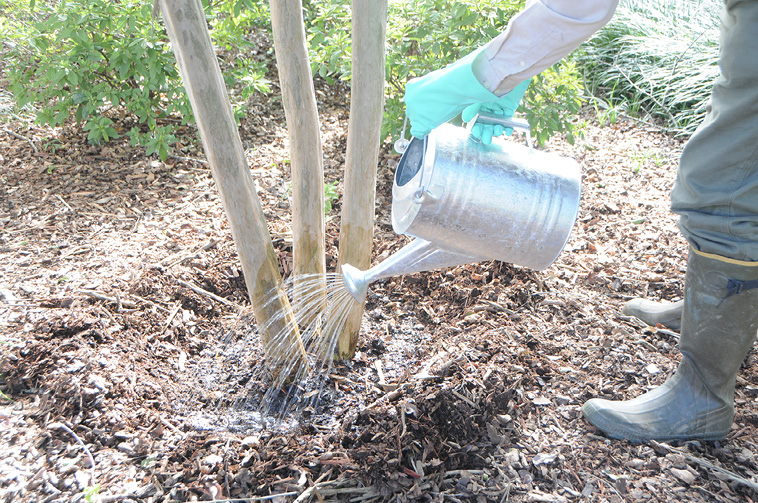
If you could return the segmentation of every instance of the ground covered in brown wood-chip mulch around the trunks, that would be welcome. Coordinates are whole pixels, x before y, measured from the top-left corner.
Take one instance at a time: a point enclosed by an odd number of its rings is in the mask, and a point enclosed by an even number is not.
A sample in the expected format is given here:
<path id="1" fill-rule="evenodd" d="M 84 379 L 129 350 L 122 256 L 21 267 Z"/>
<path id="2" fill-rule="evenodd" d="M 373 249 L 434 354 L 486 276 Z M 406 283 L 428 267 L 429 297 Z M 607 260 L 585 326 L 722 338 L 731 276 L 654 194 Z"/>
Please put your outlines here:
<path id="1" fill-rule="evenodd" d="M 344 90 L 333 93 L 319 92 L 328 181 L 341 178 L 347 129 Z M 286 275 L 279 106 L 261 99 L 241 134 Z M 682 295 L 687 247 L 668 193 L 683 141 L 654 125 L 601 127 L 588 112 L 575 146 L 551 140 L 583 172 L 556 263 L 534 272 L 493 261 L 372 285 L 355 358 L 325 376 L 317 407 L 277 426 L 245 400 L 267 378 L 197 144 L 161 162 L 122 142 L 91 147 L 73 126 L 3 117 L 0 501 L 758 498 L 753 353 L 723 442 L 613 441 L 580 412 L 591 397 L 660 384 L 680 358 L 675 332 L 619 314 L 636 296 Z M 407 241 L 389 220 L 390 143 L 374 262 Z M 339 209 L 328 215 L 330 270 Z"/>

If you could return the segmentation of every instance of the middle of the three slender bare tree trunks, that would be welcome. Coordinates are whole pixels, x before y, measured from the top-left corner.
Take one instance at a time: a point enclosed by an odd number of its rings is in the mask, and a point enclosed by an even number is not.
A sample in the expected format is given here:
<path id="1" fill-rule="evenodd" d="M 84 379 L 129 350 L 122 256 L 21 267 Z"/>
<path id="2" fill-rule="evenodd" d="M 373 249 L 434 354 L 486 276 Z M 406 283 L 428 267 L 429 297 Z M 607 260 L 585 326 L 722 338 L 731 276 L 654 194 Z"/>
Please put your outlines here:
<path id="1" fill-rule="evenodd" d="M 324 169 L 301 0 L 271 0 L 271 28 L 290 138 L 295 274 L 320 274 L 326 290 Z"/>

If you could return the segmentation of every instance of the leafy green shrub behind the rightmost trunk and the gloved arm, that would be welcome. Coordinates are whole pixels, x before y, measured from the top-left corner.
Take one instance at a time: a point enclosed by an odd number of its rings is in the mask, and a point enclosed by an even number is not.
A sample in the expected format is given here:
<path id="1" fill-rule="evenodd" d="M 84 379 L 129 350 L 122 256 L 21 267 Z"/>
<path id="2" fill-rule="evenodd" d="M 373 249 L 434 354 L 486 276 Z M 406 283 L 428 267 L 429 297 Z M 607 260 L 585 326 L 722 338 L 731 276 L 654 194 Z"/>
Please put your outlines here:
<path id="1" fill-rule="evenodd" d="M 387 95 L 382 135 L 398 135 L 405 114 L 406 82 L 441 68 L 497 36 L 523 0 L 400 0 L 390 2 L 387 26 Z M 350 79 L 350 2 L 309 2 L 306 29 L 314 74 Z M 581 78 L 570 61 L 536 76 L 520 111 L 540 143 L 558 132 L 573 141 Z"/>

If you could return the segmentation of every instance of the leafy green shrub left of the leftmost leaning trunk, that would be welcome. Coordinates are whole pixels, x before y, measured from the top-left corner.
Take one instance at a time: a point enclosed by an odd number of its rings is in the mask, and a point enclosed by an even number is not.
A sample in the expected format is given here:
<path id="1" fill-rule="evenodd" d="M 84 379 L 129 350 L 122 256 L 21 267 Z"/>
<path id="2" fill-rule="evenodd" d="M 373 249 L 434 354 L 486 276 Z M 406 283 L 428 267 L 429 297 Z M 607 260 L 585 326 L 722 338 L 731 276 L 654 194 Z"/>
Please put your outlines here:
<path id="1" fill-rule="evenodd" d="M 4 3 L 5 10 L 10 1 Z M 25 11 L 17 2 L 15 8 L 8 81 L 19 106 L 37 107 L 38 122 L 57 126 L 73 115 L 98 144 L 119 136 L 114 119 L 122 113 L 148 130 L 174 113 L 191 117 L 173 55 L 150 23 L 150 3 L 32 2 Z M 152 139 L 132 134 L 140 142 Z"/>

